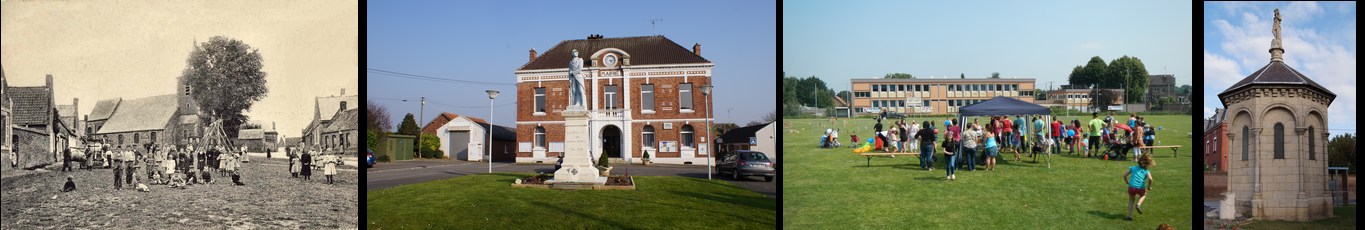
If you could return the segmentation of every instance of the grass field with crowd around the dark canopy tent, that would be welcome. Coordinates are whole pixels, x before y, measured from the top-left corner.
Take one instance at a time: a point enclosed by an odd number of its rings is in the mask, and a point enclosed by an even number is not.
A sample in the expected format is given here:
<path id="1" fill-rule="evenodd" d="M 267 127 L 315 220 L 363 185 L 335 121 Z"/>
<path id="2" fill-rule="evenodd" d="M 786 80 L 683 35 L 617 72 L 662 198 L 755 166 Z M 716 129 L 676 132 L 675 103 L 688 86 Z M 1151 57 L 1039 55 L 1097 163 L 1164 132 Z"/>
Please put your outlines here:
<path id="1" fill-rule="evenodd" d="M 1125 116 L 1126 118 L 1126 116 Z M 1067 118 L 1070 119 L 1080 119 Z M 906 119 L 910 120 L 910 119 Z M 919 118 L 923 120 L 923 118 Z M 942 119 L 938 119 L 942 125 Z M 1088 119 L 1084 119 L 1088 120 Z M 934 171 L 913 156 L 857 156 L 850 148 L 816 148 L 826 119 L 788 119 L 784 126 L 784 229 L 1190 229 L 1193 156 L 1190 116 L 1151 116 L 1164 129 L 1158 145 L 1183 145 L 1179 156 L 1159 149 L 1145 214 L 1127 215 L 1122 174 L 1133 162 L 1052 157 L 1052 167 L 1002 151 L 995 171 L 957 172 L 945 181 L 942 152 Z M 844 120 L 838 122 L 839 125 Z M 872 137 L 872 119 L 850 119 L 849 134 Z M 792 133 L 796 130 L 799 133 Z"/>

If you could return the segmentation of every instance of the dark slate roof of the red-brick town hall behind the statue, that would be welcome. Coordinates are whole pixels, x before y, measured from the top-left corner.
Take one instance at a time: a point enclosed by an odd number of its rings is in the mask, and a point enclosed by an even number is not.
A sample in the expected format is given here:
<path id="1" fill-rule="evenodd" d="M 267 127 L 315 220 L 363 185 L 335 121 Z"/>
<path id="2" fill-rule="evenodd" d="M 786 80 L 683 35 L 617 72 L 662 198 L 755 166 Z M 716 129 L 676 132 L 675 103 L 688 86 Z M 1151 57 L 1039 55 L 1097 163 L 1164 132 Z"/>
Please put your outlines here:
<path id="1" fill-rule="evenodd" d="M 597 40 L 564 40 L 554 45 L 535 60 L 526 63 L 517 70 L 554 70 L 568 68 L 573 59 L 573 49 L 579 49 L 583 66 L 592 66 L 592 53 L 605 48 L 617 48 L 631 55 L 631 66 L 642 64 L 678 64 L 678 63 L 711 63 L 699 55 L 692 53 L 689 47 L 678 45 L 663 36 L 642 37 L 613 37 Z M 621 62 L 625 64 L 625 62 Z"/>

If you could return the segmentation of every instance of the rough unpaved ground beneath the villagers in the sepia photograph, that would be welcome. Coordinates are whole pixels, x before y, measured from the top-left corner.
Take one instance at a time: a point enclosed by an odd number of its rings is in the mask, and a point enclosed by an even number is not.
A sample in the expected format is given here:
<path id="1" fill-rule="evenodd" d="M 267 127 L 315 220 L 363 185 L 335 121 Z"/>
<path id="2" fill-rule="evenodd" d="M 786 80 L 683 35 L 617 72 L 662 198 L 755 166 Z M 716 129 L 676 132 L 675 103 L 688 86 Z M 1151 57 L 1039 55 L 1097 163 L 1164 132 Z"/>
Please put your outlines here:
<path id="1" fill-rule="evenodd" d="M 289 178 L 278 159 L 242 164 L 246 186 L 227 178 L 210 185 L 152 192 L 113 189 L 112 170 L 45 171 L 3 179 L 0 229 L 356 229 L 358 179 L 340 171 L 326 185 Z M 351 167 L 354 168 L 354 167 Z M 72 175 L 78 190 L 61 193 Z"/>

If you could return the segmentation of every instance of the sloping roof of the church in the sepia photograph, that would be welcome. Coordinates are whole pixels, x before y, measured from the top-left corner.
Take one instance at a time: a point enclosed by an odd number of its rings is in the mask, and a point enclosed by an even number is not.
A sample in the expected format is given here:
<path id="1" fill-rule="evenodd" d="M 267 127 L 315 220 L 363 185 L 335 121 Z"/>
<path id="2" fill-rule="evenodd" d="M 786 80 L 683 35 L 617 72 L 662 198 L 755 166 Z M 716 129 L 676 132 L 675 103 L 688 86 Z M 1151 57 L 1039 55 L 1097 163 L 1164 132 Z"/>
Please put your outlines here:
<path id="1" fill-rule="evenodd" d="M 175 118 L 176 94 L 124 100 L 97 134 L 162 130 Z"/>

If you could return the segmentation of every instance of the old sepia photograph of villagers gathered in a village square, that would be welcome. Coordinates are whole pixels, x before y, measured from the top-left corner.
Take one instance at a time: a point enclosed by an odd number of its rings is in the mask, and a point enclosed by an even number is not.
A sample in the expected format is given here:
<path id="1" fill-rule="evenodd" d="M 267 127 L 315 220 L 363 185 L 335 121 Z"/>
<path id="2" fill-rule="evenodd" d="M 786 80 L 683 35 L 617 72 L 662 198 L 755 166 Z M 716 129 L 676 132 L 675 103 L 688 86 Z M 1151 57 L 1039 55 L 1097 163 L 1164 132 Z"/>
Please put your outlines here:
<path id="1" fill-rule="evenodd" d="M 356 5 L 4 1 L 0 229 L 358 229 Z"/>

